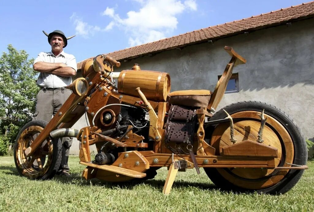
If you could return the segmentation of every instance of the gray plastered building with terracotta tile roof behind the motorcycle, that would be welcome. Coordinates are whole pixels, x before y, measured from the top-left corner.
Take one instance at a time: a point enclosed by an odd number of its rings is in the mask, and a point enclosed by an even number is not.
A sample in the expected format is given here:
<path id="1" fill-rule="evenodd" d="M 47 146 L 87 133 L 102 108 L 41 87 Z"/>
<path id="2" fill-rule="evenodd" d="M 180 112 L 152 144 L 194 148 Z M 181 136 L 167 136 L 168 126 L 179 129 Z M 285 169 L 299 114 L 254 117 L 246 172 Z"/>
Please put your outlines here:
<path id="1" fill-rule="evenodd" d="M 108 55 L 115 71 L 168 72 L 171 91 L 214 90 L 231 46 L 247 63 L 237 66 L 219 108 L 238 101 L 270 103 L 288 113 L 308 139 L 314 137 L 314 2 L 302 3 L 205 29 L 195 30 Z M 96 53 L 100 54 L 101 52 Z M 82 62 L 78 63 L 78 70 Z M 86 120 L 77 126 L 85 126 Z M 80 127 L 77 127 L 78 129 Z"/>

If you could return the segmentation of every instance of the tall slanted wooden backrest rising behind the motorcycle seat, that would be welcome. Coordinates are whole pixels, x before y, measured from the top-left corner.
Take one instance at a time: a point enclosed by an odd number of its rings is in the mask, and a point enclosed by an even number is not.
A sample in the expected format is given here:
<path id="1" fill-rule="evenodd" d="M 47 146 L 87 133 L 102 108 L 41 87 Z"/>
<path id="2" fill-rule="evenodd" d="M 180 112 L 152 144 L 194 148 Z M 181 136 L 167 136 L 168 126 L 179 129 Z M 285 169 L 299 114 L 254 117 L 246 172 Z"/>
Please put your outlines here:
<path id="1" fill-rule="evenodd" d="M 221 101 L 222 97 L 224 96 L 224 93 L 227 88 L 227 84 L 230 80 L 230 77 L 232 75 L 232 69 L 241 64 L 246 63 L 246 59 L 241 57 L 238 53 L 236 53 L 231 47 L 225 46 L 224 48 L 227 53 L 232 56 L 230 62 L 227 64 L 224 73 L 218 80 L 214 93 L 212 94 L 212 97 L 210 98 L 210 101 L 208 103 L 207 109 L 210 110 L 211 108 L 216 109 L 219 102 Z"/>

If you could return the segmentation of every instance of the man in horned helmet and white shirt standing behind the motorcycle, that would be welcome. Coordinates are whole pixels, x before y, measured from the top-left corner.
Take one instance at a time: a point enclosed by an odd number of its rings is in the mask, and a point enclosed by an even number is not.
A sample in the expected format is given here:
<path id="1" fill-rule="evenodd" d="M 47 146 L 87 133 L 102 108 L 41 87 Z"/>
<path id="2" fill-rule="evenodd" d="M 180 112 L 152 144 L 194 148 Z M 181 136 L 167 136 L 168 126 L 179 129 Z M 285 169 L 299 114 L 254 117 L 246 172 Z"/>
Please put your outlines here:
<path id="1" fill-rule="evenodd" d="M 63 48 L 67 46 L 68 40 L 60 30 L 50 34 L 43 31 L 48 37 L 51 52 L 41 52 L 33 63 L 35 71 L 40 72 L 37 85 L 41 87 L 37 95 L 36 112 L 33 120 L 45 120 L 49 122 L 53 115 L 61 108 L 72 91 L 65 88 L 72 83 L 72 77 L 76 75 L 77 65 L 73 55 L 67 54 Z M 62 161 L 57 174 L 70 176 L 68 173 L 69 149 L 72 139 L 62 138 Z"/>

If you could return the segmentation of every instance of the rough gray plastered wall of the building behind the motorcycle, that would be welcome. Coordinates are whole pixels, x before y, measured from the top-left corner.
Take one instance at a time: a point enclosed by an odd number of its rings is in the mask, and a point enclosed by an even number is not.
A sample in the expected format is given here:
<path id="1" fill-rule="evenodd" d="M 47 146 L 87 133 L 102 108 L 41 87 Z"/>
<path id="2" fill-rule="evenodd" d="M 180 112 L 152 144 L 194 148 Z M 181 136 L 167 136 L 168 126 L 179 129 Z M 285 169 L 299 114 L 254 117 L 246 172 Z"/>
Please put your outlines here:
<path id="1" fill-rule="evenodd" d="M 218 109 L 238 101 L 270 103 L 287 112 L 304 136 L 313 139 L 314 19 L 224 38 L 213 45 L 203 43 L 143 56 L 122 62 L 115 71 L 131 69 L 134 63 L 139 63 L 142 70 L 168 72 L 171 91 L 214 91 L 218 75 L 230 60 L 225 45 L 233 47 L 247 63 L 233 70 L 239 74 L 240 92 L 225 94 Z"/>

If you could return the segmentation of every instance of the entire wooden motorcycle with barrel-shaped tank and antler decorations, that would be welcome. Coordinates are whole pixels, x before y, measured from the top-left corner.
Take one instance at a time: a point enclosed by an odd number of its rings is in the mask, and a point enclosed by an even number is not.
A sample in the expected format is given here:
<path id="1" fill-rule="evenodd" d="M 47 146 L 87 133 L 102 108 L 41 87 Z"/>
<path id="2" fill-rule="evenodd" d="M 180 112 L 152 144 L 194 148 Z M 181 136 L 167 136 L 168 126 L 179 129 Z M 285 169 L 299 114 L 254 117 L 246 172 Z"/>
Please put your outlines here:
<path id="1" fill-rule="evenodd" d="M 61 162 L 60 138 L 77 137 L 86 180 L 146 180 L 168 167 L 167 194 L 178 171 L 200 173 L 203 167 L 221 189 L 287 192 L 307 169 L 304 137 L 288 114 L 270 104 L 238 102 L 215 112 L 232 69 L 246 63 L 232 48 L 225 50 L 231 60 L 214 92 L 170 93 L 168 73 L 143 71 L 138 64 L 113 72 L 120 62 L 106 55 L 87 60 L 51 121 L 31 121 L 20 130 L 16 168 L 29 178 L 52 178 Z M 89 126 L 71 128 L 85 113 Z"/>

